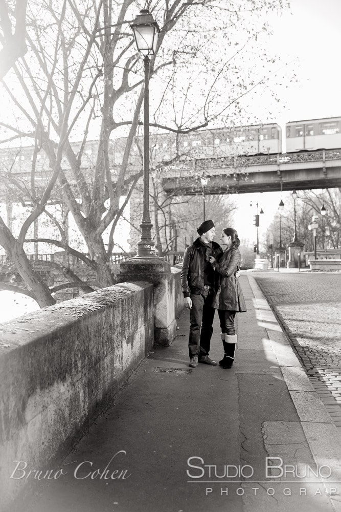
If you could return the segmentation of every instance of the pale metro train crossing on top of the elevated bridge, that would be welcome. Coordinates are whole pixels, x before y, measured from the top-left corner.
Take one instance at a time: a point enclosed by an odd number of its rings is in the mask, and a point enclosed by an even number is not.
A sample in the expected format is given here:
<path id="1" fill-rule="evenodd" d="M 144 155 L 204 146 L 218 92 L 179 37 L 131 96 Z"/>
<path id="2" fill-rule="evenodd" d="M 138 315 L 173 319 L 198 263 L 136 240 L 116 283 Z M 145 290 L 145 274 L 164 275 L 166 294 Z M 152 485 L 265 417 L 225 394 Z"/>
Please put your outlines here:
<path id="1" fill-rule="evenodd" d="M 137 139 L 140 139 L 138 137 Z M 137 140 L 136 140 L 137 142 Z M 137 144 L 141 146 L 142 140 Z M 126 138 L 116 139 L 112 148 L 115 163 L 121 163 Z M 285 147 L 277 123 L 204 129 L 178 137 L 175 133 L 150 135 L 153 163 L 171 160 L 177 154 L 188 159 L 220 158 L 231 155 L 293 153 L 341 148 L 341 117 L 290 121 L 285 125 Z M 137 145 L 133 153 L 140 158 Z M 131 160 L 134 159 L 132 155 Z"/>

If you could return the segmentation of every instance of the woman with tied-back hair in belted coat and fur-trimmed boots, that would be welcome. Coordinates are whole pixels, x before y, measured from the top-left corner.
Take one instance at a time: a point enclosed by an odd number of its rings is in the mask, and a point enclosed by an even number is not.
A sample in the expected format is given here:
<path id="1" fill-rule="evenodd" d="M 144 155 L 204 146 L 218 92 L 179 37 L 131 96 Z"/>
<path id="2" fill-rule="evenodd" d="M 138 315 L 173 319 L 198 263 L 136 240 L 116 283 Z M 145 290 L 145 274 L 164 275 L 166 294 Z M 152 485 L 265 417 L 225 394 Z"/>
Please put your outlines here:
<path id="1" fill-rule="evenodd" d="M 236 313 L 246 311 L 246 305 L 238 279 L 235 277 L 236 270 L 240 268 L 241 255 L 239 252 L 239 238 L 237 231 L 230 227 L 221 233 L 221 245 L 226 249 L 221 255 L 219 262 L 210 258 L 215 265 L 217 272 L 217 292 L 214 296 L 212 307 L 218 310 L 221 328 L 221 339 L 224 348 L 224 357 L 219 361 L 223 368 L 231 368 L 235 358 L 237 334 L 235 330 Z"/>

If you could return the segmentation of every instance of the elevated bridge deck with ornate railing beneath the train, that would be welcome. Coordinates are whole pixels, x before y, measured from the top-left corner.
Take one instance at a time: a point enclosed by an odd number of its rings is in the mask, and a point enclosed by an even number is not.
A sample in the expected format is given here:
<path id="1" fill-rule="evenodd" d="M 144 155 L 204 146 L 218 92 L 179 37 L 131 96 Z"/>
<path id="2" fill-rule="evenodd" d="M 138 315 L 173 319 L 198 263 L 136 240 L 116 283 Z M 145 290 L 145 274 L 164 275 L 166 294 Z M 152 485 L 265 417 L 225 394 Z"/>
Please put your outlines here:
<path id="1" fill-rule="evenodd" d="M 173 195 L 272 192 L 341 187 L 341 149 L 276 155 L 201 158 L 165 169 L 162 186 Z"/>

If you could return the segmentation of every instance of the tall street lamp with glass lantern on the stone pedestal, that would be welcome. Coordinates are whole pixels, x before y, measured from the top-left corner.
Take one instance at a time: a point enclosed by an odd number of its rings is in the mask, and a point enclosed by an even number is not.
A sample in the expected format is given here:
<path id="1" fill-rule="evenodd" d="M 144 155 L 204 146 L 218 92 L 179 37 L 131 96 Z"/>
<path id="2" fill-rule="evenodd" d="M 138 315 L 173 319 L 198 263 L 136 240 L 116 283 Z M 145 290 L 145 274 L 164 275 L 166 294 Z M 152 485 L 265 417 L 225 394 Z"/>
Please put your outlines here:
<path id="1" fill-rule="evenodd" d="M 141 239 L 138 242 L 137 257 L 155 255 L 155 244 L 151 239 L 152 223 L 149 214 L 149 64 L 155 57 L 157 37 L 160 33 L 157 23 L 148 9 L 142 9 L 130 25 L 138 52 L 144 61 L 144 120 L 143 120 L 143 215 L 140 224 Z"/>

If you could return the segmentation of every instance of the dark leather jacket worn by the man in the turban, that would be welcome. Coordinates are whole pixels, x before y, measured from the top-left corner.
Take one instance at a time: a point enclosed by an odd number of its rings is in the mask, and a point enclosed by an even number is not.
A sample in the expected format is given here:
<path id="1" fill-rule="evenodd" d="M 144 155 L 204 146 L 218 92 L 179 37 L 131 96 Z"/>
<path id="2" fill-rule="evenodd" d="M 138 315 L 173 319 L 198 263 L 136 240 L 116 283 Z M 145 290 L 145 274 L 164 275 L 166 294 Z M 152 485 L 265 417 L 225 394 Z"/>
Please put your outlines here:
<path id="1" fill-rule="evenodd" d="M 181 287 L 184 297 L 189 297 L 191 291 L 200 293 L 204 286 L 204 266 L 206 244 L 197 238 L 192 245 L 187 247 L 184 254 L 183 266 L 181 268 Z M 219 260 L 223 253 L 222 248 L 216 242 L 212 242 L 213 258 Z"/>

